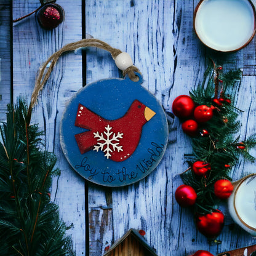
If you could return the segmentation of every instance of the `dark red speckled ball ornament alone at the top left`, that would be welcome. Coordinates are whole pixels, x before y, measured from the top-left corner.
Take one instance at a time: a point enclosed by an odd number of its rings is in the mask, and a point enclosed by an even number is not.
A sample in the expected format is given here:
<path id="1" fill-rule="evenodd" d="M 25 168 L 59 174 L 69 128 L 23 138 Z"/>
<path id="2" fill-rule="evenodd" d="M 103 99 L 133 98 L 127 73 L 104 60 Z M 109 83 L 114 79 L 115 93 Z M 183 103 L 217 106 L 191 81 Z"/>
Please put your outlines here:
<path id="1" fill-rule="evenodd" d="M 38 12 L 38 22 L 45 30 L 56 28 L 64 19 L 64 10 L 58 4 L 45 4 Z"/>

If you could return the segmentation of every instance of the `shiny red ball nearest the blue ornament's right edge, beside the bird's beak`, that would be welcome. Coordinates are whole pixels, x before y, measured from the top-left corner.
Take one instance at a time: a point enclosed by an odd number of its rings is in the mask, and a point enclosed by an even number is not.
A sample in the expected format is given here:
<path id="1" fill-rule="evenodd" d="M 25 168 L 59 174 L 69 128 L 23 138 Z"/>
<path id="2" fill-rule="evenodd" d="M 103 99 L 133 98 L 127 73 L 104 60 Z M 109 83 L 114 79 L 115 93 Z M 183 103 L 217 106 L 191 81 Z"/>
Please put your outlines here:
<path id="1" fill-rule="evenodd" d="M 172 112 L 178 118 L 189 118 L 196 107 L 192 98 L 188 95 L 180 95 L 172 103 Z"/>

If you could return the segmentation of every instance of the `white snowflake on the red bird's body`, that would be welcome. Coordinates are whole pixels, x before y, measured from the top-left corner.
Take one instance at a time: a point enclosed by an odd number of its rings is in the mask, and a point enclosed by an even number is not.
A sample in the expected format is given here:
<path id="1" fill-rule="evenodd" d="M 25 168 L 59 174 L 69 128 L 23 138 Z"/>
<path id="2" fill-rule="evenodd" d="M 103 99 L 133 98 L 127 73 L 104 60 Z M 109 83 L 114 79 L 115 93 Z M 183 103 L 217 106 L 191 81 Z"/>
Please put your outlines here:
<path id="1" fill-rule="evenodd" d="M 104 156 L 106 156 L 106 158 L 110 158 L 111 154 L 113 151 L 122 151 L 122 146 L 119 146 L 119 138 L 122 138 L 122 133 L 118 132 L 118 134 L 113 134 L 113 132 L 111 132 L 112 127 L 110 127 L 110 125 L 108 124 L 107 127 L 105 127 L 104 134 L 101 133 L 99 134 L 99 132 L 94 132 L 94 138 L 97 138 L 97 145 L 94 146 L 94 150 L 96 150 L 98 152 L 98 150 L 102 150 L 105 154 Z M 112 136 L 111 136 L 112 135 Z M 114 143 L 116 142 L 116 143 Z"/>

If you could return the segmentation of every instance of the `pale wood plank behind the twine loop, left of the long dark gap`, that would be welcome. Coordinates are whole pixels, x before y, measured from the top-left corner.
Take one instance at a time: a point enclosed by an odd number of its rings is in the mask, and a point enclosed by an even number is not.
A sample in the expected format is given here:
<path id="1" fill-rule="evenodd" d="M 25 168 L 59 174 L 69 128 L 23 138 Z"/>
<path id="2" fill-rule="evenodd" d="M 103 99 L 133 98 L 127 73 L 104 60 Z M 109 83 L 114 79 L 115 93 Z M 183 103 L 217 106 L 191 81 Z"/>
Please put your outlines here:
<path id="1" fill-rule="evenodd" d="M 36 16 L 14 25 L 14 98 L 30 97 L 39 66 L 55 51 L 69 42 L 81 39 L 81 1 L 58 1 L 65 10 L 65 21 L 55 30 L 46 31 L 39 26 Z M 14 18 L 28 14 L 39 6 L 39 1 L 14 1 Z M 57 166 L 62 171 L 54 180 L 52 200 L 60 206 L 60 215 L 73 238 L 77 255 L 85 254 L 85 198 L 84 180 L 66 162 L 60 148 L 59 125 L 66 102 L 82 87 L 81 51 L 60 58 L 38 99 L 33 113 L 33 122 L 45 130 L 46 149 L 58 158 Z"/>

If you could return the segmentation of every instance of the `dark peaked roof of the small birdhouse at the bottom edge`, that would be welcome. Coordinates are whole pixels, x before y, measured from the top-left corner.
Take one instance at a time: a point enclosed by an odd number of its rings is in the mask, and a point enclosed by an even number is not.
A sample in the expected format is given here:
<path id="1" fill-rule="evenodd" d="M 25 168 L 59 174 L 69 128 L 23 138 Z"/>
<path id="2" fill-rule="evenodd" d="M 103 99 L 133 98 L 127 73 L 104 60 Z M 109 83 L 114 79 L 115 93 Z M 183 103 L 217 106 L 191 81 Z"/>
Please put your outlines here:
<path id="1" fill-rule="evenodd" d="M 111 252 L 118 247 L 123 241 L 125 241 L 129 236 L 133 236 L 133 238 L 135 238 L 140 245 L 146 250 L 147 252 L 147 256 L 158 256 L 154 250 L 148 245 L 148 243 L 145 241 L 145 239 L 140 235 L 140 233 L 138 233 L 137 230 L 134 229 L 130 229 L 129 231 L 127 231 L 126 234 L 124 234 L 124 236 L 122 236 L 120 239 L 118 239 L 118 241 L 114 242 L 114 244 L 110 247 L 110 249 L 103 255 L 103 256 L 108 256 L 111 254 Z"/>

